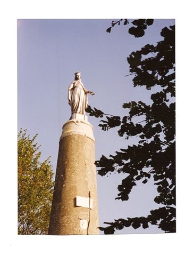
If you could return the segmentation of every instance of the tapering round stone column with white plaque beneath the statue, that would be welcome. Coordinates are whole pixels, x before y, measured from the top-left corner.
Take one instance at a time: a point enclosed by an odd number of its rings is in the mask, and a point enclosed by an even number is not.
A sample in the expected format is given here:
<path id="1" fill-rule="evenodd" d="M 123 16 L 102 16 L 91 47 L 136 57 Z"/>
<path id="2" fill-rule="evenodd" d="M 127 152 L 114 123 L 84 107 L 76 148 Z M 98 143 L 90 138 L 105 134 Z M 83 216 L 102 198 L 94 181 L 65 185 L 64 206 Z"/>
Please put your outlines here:
<path id="1" fill-rule="evenodd" d="M 93 126 L 73 114 L 60 138 L 49 235 L 99 234 Z"/>

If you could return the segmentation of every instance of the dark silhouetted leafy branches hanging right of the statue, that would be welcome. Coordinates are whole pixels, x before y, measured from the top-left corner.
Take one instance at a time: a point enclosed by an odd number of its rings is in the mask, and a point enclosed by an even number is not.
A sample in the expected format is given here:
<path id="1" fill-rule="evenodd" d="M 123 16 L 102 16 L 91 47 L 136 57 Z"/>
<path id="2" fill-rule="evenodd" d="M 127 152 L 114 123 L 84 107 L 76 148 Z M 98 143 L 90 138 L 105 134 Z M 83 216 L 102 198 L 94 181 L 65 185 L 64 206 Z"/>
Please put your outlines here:
<path id="1" fill-rule="evenodd" d="M 119 25 L 122 21 L 112 24 Z M 144 35 L 139 30 L 145 28 L 142 24 L 147 20 L 132 23 L 138 27 L 136 30 L 130 28 L 129 34 Z M 129 21 L 124 20 L 124 25 L 128 24 Z M 107 32 L 110 31 L 108 28 Z M 147 90 L 157 87 L 157 92 L 150 95 L 152 104 L 146 105 L 142 101 L 124 103 L 122 107 L 128 109 L 128 115 L 123 117 L 106 115 L 90 106 L 87 109 L 90 116 L 106 116 L 105 120 L 100 120 L 102 130 L 119 127 L 120 137 L 138 138 L 136 145 L 121 148 L 108 158 L 102 155 L 96 161 L 99 175 L 109 172 L 128 174 L 118 186 L 115 199 L 127 201 L 133 186 L 139 182 L 146 184 L 153 177 L 158 193 L 154 201 L 161 205 L 151 210 L 148 216 L 104 222 L 108 226 L 99 228 L 104 234 L 114 234 L 116 229 L 130 226 L 145 229 L 149 224 L 157 225 L 165 233 L 175 232 L 175 27 L 164 27 L 161 36 L 163 40 L 156 45 L 147 44 L 127 58 L 130 75 L 134 75 L 134 87 L 146 86 Z"/>

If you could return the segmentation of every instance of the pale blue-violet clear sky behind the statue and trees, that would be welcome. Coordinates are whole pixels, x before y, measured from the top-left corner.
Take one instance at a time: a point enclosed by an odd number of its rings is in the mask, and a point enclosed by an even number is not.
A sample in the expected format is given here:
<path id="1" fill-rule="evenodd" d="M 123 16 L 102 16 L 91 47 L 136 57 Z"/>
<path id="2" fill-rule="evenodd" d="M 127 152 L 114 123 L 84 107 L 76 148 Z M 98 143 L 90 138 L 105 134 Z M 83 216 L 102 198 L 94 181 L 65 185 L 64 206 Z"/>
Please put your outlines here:
<path id="1" fill-rule="evenodd" d="M 127 57 L 147 43 L 156 44 L 162 39 L 161 29 L 174 25 L 175 21 L 156 19 L 142 38 L 130 36 L 124 25 L 106 33 L 111 21 L 18 19 L 18 129 L 27 129 L 31 137 L 38 133 L 42 159 L 51 156 L 54 173 L 62 126 L 71 115 L 67 92 L 75 71 L 81 71 L 85 87 L 95 92 L 93 97 L 89 95 L 89 104 L 104 113 L 127 115 L 122 104 L 131 100 L 150 103 L 152 91 L 143 87 L 133 89 L 132 77 L 126 76 L 129 74 Z M 94 126 L 96 159 L 136 141 L 120 138 L 116 130 L 102 131 L 94 117 L 88 120 Z M 115 201 L 116 188 L 123 177 L 97 175 L 99 226 L 118 218 L 146 216 L 160 206 L 153 201 L 156 195 L 153 180 L 148 185 L 136 186 L 129 201 Z M 137 230 L 131 227 L 116 234 L 161 232 L 151 226 Z"/>

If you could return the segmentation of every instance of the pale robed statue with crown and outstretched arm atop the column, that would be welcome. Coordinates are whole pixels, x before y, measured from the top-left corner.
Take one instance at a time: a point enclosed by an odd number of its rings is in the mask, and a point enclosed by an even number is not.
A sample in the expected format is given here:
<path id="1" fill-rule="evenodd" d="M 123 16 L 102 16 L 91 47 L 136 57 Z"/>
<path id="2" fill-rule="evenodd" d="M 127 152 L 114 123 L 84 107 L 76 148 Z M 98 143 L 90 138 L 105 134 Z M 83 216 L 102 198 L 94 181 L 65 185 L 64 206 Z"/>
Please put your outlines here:
<path id="1" fill-rule="evenodd" d="M 68 100 L 71 106 L 72 114 L 85 115 L 85 109 L 88 107 L 87 94 L 94 95 L 94 92 L 88 91 L 81 82 L 80 72 L 74 73 L 74 81 L 69 86 Z"/>

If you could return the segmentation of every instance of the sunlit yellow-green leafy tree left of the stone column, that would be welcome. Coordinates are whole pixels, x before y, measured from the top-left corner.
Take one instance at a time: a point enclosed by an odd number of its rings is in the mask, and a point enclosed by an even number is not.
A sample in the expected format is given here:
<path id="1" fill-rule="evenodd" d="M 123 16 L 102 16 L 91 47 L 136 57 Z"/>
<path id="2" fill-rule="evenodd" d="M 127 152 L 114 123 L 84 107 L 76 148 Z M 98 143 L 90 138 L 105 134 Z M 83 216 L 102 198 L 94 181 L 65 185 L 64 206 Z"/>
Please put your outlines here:
<path id="1" fill-rule="evenodd" d="M 18 133 L 18 234 L 41 235 L 48 233 L 53 185 L 49 157 L 40 163 L 41 151 L 35 140 Z"/>

